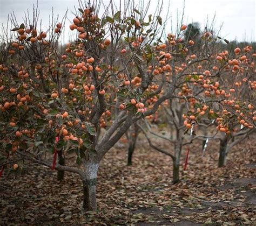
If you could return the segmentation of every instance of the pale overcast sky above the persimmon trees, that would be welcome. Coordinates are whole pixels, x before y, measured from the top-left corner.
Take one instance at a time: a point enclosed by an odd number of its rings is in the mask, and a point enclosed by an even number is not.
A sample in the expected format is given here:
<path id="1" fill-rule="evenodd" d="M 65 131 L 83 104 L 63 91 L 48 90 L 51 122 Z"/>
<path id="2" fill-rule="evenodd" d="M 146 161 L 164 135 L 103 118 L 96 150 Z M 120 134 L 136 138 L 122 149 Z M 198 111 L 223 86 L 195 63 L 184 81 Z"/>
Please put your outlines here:
<path id="1" fill-rule="evenodd" d="M 122 0 L 124 1 L 124 0 Z M 137 0 L 136 0 L 137 1 Z M 147 0 L 144 0 L 147 2 Z M 104 2 L 108 2 L 104 0 Z M 119 2 L 119 0 L 117 0 Z M 151 0 L 151 8 L 149 12 L 153 13 L 157 0 Z M 183 0 L 164 0 L 165 5 L 170 2 L 171 15 L 173 25 L 176 25 L 177 10 L 181 13 L 183 9 Z M 185 1 L 185 17 L 184 23 L 199 22 L 204 27 L 207 18 L 212 20 L 214 14 L 215 30 L 218 30 L 221 24 L 221 36 L 228 39 L 238 41 L 256 41 L 255 36 L 255 0 L 186 0 Z M 22 17 L 26 9 L 31 10 L 36 0 L 0 0 L 0 22 L 6 23 L 8 13 L 14 11 L 18 22 L 22 23 Z M 64 15 L 66 9 L 69 9 L 68 18 L 72 19 L 71 10 L 74 5 L 78 5 L 77 0 L 38 0 L 40 18 L 43 20 L 43 27 L 48 25 L 51 10 L 60 17 Z M 167 7 L 164 7 L 163 15 L 165 15 Z M 67 23 L 67 25 L 69 22 Z M 168 27 L 167 27 L 168 29 Z M 168 33 L 168 31 L 167 31 Z"/>

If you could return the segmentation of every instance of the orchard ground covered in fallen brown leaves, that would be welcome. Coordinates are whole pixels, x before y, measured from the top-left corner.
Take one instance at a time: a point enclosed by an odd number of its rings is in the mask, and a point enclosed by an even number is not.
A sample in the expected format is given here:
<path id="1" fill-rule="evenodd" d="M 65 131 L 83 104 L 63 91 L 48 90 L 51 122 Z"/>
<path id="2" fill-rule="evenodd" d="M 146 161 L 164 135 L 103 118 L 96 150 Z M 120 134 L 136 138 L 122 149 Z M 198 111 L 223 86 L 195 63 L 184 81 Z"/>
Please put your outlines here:
<path id="1" fill-rule="evenodd" d="M 145 141 L 144 141 L 145 142 Z M 167 144 L 159 144 L 168 147 Z M 171 148 L 171 147 L 169 147 Z M 31 165 L 22 176 L 0 179 L 0 225 L 255 225 L 256 141 L 246 140 L 217 168 L 218 144 L 190 146 L 188 167 L 172 185 L 172 161 L 138 143 L 133 165 L 126 166 L 124 147 L 106 154 L 98 176 L 98 212 L 81 211 L 82 182 L 65 173 Z"/>

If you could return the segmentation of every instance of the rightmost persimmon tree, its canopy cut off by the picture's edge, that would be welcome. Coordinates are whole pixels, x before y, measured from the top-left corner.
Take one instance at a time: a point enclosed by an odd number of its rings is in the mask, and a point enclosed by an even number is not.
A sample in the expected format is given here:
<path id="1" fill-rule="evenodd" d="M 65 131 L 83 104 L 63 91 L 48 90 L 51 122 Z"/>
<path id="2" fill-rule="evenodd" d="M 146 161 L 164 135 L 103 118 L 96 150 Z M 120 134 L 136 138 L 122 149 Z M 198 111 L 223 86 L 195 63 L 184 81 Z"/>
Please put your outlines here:
<path id="1" fill-rule="evenodd" d="M 226 132 L 224 129 L 221 131 L 224 133 L 220 136 L 214 136 L 214 139 L 220 140 L 219 160 L 218 166 L 224 166 L 226 163 L 227 153 L 232 148 L 246 139 L 249 135 L 255 132 L 252 124 L 255 125 L 255 66 L 254 59 L 256 54 L 253 53 L 252 46 L 244 46 L 242 48 L 236 47 L 233 49 L 232 58 L 228 60 L 226 70 L 233 66 L 236 70 L 230 71 L 230 76 L 234 76 L 234 79 L 229 80 L 226 78 L 225 82 L 231 86 L 232 95 L 234 96 L 233 108 L 230 111 L 225 110 L 227 115 L 226 122 L 229 130 Z M 234 112 L 236 113 L 234 116 Z M 217 118 L 218 127 L 221 128 L 223 119 Z"/>

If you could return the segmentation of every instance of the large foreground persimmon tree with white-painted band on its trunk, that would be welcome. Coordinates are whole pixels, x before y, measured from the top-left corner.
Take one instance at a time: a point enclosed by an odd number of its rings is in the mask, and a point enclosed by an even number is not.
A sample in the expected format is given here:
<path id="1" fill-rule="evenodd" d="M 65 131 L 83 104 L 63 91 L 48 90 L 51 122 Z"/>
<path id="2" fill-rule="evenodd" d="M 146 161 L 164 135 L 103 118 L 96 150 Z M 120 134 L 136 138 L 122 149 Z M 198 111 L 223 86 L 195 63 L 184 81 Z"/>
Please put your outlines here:
<path id="1" fill-rule="evenodd" d="M 98 1 L 78 9 L 70 25 L 77 39 L 66 54 L 58 52 L 64 23 L 43 32 L 38 15 L 22 24 L 13 19 L 12 36 L 2 40 L 9 55 L 0 67 L 1 167 L 15 163 L 14 171 L 21 171 L 29 160 L 78 174 L 86 210 L 97 208 L 104 154 L 174 90 L 167 83 L 163 93 L 159 79 L 164 76 L 156 53 L 159 45 L 165 48 L 163 3 L 147 17 L 149 5 L 140 10 L 134 5 L 116 9 L 112 1 L 107 6 Z M 170 60 L 171 54 L 164 57 Z M 147 109 L 147 100 L 156 95 Z M 105 129 L 101 136 L 100 128 Z M 56 163 L 58 156 L 66 159 L 65 166 Z"/>

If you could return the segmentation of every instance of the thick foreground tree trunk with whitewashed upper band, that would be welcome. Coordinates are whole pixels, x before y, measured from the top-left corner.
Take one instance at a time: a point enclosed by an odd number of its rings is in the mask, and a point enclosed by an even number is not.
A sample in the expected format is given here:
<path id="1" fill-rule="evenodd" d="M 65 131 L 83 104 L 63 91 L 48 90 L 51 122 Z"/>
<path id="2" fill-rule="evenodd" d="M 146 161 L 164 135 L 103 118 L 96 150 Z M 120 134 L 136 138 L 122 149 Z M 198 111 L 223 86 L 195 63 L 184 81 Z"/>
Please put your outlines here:
<path id="1" fill-rule="evenodd" d="M 86 163 L 85 172 L 83 175 L 83 208 L 85 211 L 96 210 L 96 183 L 97 183 L 97 173 L 99 164 L 96 163 Z"/>

